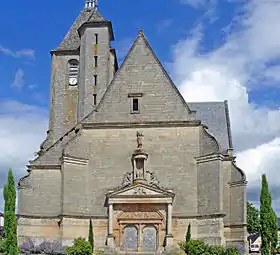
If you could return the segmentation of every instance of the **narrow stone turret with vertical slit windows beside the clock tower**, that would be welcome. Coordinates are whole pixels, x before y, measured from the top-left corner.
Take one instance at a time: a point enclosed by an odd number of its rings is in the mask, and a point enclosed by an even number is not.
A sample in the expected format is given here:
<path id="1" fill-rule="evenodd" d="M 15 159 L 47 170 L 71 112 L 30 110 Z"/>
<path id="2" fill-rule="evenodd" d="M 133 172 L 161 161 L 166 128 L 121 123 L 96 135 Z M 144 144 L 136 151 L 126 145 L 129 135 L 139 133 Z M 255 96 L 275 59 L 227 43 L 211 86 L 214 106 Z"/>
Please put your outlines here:
<path id="1" fill-rule="evenodd" d="M 100 102 L 112 79 L 112 24 L 98 11 L 97 0 L 86 0 L 85 11 L 92 12 L 87 22 L 78 28 L 80 46 L 80 89 L 78 121 Z"/>

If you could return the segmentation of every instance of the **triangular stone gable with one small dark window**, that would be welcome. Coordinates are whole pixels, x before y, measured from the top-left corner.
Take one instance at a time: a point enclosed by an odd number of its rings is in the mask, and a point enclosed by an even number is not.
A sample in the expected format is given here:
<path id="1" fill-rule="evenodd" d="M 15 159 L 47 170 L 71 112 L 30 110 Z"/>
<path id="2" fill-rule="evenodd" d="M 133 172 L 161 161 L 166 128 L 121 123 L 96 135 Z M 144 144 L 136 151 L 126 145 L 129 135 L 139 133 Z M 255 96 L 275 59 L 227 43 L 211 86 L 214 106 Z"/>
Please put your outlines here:
<path id="1" fill-rule="evenodd" d="M 139 112 L 132 113 L 133 98 Z M 85 122 L 187 121 L 193 115 L 140 32 L 94 113 Z"/>

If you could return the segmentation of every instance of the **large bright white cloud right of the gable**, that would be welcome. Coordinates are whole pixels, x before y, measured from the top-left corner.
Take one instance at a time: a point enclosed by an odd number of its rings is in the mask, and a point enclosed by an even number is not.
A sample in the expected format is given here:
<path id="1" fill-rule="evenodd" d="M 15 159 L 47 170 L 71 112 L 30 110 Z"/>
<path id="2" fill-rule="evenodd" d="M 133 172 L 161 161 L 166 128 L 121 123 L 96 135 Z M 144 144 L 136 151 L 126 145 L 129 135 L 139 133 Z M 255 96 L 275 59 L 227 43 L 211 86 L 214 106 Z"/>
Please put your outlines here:
<path id="1" fill-rule="evenodd" d="M 203 27 L 174 47 L 172 71 L 187 101 L 228 100 L 237 163 L 248 175 L 249 189 L 259 188 L 267 173 L 274 190 L 280 191 L 280 111 L 253 104 L 249 90 L 267 78 L 279 80 L 280 1 L 247 2 L 220 47 L 201 53 Z M 276 193 L 273 193 L 276 200 Z M 278 208 L 280 209 L 280 208 Z M 280 211 L 279 211 L 280 212 Z"/>

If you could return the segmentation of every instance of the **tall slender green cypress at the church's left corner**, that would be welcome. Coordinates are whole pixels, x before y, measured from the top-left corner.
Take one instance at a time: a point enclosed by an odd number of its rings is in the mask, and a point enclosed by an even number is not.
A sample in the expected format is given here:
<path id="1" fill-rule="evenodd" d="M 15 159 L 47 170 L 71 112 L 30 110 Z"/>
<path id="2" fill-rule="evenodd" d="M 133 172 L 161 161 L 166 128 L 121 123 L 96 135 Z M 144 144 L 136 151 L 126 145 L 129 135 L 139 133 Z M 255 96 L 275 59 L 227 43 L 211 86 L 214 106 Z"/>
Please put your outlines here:
<path id="1" fill-rule="evenodd" d="M 16 185 L 12 169 L 8 173 L 8 183 L 4 185 L 4 237 L 5 254 L 18 254 L 17 218 L 16 218 Z"/>

